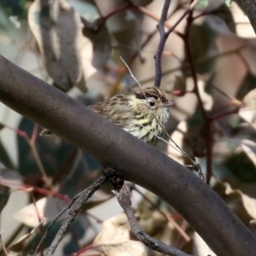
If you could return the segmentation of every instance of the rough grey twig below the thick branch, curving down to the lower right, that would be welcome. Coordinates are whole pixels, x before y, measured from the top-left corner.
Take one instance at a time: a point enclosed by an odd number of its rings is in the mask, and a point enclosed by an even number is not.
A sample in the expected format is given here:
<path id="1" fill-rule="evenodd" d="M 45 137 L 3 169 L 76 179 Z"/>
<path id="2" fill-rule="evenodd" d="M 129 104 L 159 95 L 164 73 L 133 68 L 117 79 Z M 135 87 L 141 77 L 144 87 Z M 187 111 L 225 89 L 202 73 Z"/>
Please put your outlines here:
<path id="1" fill-rule="evenodd" d="M 183 253 L 182 251 L 178 250 L 177 248 L 167 246 L 164 242 L 154 239 L 151 236 L 148 236 L 143 230 L 139 228 L 137 223 L 137 218 L 135 217 L 134 211 L 131 208 L 131 187 L 133 183 L 125 183 L 123 187 L 117 191 L 114 190 L 114 194 L 119 201 L 119 205 L 124 209 L 125 214 L 128 218 L 128 221 L 131 225 L 131 230 L 133 234 L 137 237 L 137 239 L 146 246 L 158 251 L 160 253 L 166 253 L 167 255 L 171 256 L 191 256 L 188 253 Z"/>

